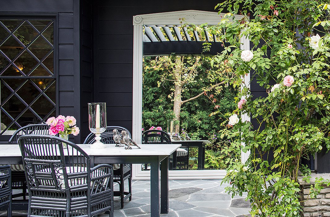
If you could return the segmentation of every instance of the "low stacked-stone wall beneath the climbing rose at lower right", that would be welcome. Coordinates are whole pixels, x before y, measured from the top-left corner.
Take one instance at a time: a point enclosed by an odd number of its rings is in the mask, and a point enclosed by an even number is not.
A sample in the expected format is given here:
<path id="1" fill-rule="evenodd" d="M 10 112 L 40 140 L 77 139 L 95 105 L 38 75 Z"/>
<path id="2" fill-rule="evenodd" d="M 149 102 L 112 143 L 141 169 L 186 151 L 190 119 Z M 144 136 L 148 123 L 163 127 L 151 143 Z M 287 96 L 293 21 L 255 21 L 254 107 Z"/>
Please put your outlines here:
<path id="1" fill-rule="evenodd" d="M 313 173 L 311 182 L 307 183 L 303 181 L 303 177 L 298 178 L 298 183 L 301 185 L 301 201 L 303 205 L 303 217 L 314 217 L 314 216 L 329 216 L 330 217 L 330 186 L 323 186 L 320 194 L 314 199 L 309 197 L 310 187 L 315 183 L 315 178 L 322 177 L 330 180 L 330 173 Z"/>

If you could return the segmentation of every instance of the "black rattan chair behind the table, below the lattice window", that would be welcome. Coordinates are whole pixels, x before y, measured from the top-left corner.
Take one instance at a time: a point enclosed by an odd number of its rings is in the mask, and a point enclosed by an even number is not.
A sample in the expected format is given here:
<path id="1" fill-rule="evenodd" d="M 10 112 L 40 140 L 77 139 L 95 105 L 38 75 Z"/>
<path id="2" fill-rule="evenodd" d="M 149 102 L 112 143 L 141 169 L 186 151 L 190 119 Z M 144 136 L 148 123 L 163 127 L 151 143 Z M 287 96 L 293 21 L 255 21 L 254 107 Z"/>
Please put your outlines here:
<path id="1" fill-rule="evenodd" d="M 9 144 L 18 144 L 17 140 L 21 135 L 40 134 L 49 135 L 49 126 L 47 124 L 34 124 L 21 127 L 10 137 Z M 12 165 L 12 189 L 22 189 L 21 193 L 13 195 L 13 198 L 23 197 L 26 199 L 27 184 L 25 180 L 24 167 L 22 164 Z"/>

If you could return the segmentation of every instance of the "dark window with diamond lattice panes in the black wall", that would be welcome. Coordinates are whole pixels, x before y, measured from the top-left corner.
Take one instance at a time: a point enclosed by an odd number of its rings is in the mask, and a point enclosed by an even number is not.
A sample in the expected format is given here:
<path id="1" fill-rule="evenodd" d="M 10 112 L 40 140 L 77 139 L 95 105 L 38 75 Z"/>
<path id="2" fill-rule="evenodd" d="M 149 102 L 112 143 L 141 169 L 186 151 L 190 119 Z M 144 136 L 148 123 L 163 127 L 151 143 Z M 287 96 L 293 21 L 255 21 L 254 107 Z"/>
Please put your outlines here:
<path id="1" fill-rule="evenodd" d="M 54 21 L 0 19 L 1 135 L 55 116 Z"/>

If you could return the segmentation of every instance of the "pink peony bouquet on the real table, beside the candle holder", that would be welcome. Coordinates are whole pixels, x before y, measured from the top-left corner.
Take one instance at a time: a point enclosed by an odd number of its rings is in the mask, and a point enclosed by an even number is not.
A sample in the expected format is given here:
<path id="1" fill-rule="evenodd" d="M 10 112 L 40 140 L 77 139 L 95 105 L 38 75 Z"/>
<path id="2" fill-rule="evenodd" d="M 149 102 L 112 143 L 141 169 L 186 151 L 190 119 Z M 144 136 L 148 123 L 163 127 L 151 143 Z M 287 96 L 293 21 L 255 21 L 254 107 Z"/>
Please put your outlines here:
<path id="1" fill-rule="evenodd" d="M 51 117 L 47 120 L 46 124 L 49 127 L 49 134 L 54 136 L 57 133 L 60 135 L 78 135 L 80 132 L 79 127 L 76 125 L 77 120 L 73 116 L 59 115 L 57 118 Z"/>

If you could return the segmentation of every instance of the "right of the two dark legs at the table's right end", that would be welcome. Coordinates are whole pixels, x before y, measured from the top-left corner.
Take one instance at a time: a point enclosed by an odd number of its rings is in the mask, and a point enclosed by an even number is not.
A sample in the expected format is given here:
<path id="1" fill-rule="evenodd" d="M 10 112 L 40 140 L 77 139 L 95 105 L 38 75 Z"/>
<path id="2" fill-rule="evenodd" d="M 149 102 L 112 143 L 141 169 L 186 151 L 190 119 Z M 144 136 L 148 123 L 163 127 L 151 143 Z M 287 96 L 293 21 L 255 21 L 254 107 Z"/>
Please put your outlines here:
<path id="1" fill-rule="evenodd" d="M 160 213 L 168 213 L 168 157 L 160 162 Z"/>

